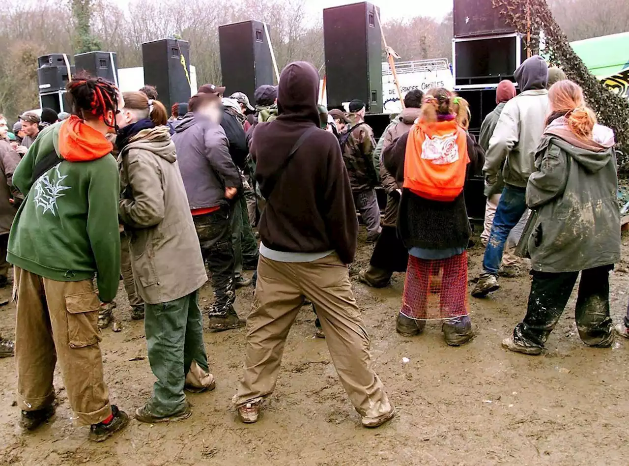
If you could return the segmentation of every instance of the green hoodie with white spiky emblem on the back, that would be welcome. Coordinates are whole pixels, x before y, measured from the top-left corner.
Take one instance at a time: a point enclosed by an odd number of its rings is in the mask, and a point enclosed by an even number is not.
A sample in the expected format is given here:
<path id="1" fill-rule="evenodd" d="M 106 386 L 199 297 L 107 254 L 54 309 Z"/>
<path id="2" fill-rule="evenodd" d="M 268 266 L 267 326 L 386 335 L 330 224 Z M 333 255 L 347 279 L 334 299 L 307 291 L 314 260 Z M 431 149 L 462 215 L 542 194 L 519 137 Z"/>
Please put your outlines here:
<path id="1" fill-rule="evenodd" d="M 40 133 L 13 174 L 26 199 L 11 228 L 7 260 L 58 282 L 96 274 L 99 297 L 109 302 L 120 282 L 118 165 L 111 154 L 89 162 L 64 160 L 34 180 L 37 162 L 52 150 L 59 155 L 60 124 Z"/>

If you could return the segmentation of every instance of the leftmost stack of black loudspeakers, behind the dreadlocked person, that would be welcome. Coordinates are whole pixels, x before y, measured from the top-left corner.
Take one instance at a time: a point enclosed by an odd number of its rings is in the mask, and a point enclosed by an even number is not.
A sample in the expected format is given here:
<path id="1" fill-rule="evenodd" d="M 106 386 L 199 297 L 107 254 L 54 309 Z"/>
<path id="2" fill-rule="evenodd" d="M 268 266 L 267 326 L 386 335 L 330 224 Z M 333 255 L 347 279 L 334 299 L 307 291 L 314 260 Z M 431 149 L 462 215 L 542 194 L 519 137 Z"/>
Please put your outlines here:
<path id="1" fill-rule="evenodd" d="M 74 74 L 74 66 L 66 53 L 51 53 L 37 58 L 40 108 L 52 108 L 57 113 L 70 111 L 64 99 L 65 85 Z"/>

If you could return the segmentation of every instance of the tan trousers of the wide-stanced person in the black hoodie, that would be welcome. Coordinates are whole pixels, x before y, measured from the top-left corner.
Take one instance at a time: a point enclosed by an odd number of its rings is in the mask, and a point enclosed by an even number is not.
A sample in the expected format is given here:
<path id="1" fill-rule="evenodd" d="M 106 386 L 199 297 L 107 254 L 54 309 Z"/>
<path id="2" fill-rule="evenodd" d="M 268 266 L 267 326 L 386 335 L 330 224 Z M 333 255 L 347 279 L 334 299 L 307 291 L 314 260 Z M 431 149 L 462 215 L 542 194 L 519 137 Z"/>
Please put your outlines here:
<path id="1" fill-rule="evenodd" d="M 260 257 L 258 283 L 247 318 L 245 370 L 235 404 L 269 396 L 276 387 L 284 345 L 303 296 L 316 306 L 338 377 L 361 416 L 391 411 L 372 369 L 369 336 L 350 284 L 347 265 L 333 253 L 315 262 L 288 263 Z"/>

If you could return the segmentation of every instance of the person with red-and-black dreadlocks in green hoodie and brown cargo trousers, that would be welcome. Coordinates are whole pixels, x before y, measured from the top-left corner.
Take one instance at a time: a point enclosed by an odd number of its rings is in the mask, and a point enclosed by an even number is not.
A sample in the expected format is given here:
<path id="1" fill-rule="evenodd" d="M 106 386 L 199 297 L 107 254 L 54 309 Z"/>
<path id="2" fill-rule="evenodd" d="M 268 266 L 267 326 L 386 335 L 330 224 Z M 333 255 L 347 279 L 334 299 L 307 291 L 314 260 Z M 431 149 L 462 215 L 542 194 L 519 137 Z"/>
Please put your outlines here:
<path id="1" fill-rule="evenodd" d="M 74 424 L 90 425 L 90 440 L 103 441 L 129 421 L 109 403 L 97 326 L 99 299 L 114 299 L 120 274 L 120 179 L 105 135 L 123 103 L 101 78 L 75 78 L 67 95 L 73 116 L 45 128 L 13 174 L 25 196 L 7 255 L 15 266 L 19 425 L 34 430 L 53 415 L 58 362 Z"/>

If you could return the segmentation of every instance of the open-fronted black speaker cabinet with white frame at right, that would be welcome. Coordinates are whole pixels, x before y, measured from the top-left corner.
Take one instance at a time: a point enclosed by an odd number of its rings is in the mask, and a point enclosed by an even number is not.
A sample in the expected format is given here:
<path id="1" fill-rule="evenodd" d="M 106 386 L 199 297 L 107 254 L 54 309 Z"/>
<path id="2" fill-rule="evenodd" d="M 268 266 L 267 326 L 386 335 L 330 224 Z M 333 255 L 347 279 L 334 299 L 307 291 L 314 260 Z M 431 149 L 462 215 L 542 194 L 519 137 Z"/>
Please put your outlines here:
<path id="1" fill-rule="evenodd" d="M 455 84 L 497 84 L 513 80 L 513 73 L 526 58 L 519 36 L 454 40 Z"/>

